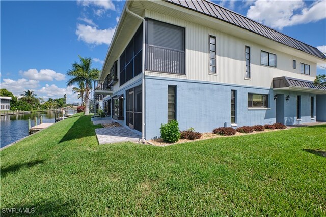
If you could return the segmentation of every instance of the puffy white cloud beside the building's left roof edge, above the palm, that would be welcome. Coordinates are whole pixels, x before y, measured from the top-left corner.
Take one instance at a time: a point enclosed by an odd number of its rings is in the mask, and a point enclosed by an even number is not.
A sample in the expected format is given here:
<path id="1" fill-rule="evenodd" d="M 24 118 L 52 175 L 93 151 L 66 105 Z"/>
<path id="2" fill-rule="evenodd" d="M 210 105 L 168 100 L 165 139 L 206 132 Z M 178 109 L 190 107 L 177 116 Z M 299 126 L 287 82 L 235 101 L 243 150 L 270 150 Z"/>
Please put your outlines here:
<path id="1" fill-rule="evenodd" d="M 97 29 L 90 25 L 77 24 L 76 35 L 78 40 L 82 40 L 88 44 L 107 44 L 110 45 L 114 31 L 114 28 Z"/>

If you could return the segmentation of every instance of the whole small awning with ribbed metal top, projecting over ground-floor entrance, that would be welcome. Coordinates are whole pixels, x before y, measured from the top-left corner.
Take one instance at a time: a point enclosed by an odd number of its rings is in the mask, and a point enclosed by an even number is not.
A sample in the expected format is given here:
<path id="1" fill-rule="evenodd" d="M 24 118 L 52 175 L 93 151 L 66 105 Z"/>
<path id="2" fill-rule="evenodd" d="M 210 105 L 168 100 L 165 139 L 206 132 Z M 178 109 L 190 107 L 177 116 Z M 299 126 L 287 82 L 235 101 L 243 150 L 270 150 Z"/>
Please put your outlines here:
<path id="1" fill-rule="evenodd" d="M 273 78 L 273 89 L 311 92 L 312 94 L 326 94 L 326 85 L 315 85 L 312 81 L 285 76 Z"/>

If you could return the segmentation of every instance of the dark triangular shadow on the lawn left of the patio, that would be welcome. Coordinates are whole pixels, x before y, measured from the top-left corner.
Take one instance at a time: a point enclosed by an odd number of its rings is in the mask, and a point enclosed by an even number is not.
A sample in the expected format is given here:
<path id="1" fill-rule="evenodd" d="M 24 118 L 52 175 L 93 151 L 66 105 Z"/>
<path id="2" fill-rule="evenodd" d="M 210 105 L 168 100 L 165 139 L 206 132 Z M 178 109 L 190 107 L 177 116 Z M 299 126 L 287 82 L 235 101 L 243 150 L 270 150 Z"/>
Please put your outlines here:
<path id="1" fill-rule="evenodd" d="M 80 116 L 79 119 L 74 122 L 68 132 L 60 140 L 59 143 L 79 139 L 83 137 L 95 136 L 95 129 L 101 128 L 100 125 L 93 125 L 91 116 Z"/>

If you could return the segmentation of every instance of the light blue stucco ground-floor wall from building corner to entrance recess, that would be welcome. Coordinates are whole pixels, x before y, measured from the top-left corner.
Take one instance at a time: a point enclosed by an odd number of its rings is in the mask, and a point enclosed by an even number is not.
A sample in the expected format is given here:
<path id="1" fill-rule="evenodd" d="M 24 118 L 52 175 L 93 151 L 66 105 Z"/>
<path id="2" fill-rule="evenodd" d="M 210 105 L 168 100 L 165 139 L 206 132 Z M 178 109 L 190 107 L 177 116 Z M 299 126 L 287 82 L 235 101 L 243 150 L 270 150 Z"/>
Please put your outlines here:
<path id="1" fill-rule="evenodd" d="M 211 132 L 231 126 L 231 90 L 236 90 L 236 123 L 239 126 L 275 122 L 273 90 L 191 80 L 146 77 L 146 139 L 159 137 L 168 121 L 168 85 L 177 86 L 177 120 L 180 130 Z M 248 93 L 269 94 L 268 110 L 248 110 Z"/>

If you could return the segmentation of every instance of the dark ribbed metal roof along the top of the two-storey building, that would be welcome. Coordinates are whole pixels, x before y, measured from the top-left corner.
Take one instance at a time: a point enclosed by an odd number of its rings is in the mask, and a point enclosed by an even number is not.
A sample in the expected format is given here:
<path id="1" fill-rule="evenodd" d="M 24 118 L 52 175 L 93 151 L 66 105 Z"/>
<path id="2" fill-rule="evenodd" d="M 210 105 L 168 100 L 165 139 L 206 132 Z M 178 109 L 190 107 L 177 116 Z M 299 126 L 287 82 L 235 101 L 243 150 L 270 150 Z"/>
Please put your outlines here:
<path id="1" fill-rule="evenodd" d="M 305 53 L 311 54 L 318 58 L 326 59 L 326 56 L 322 52 L 320 52 L 317 48 L 305 44 L 296 39 L 293 39 L 287 35 L 284 35 L 283 33 L 277 32 L 272 28 L 262 25 L 243 15 L 230 11 L 212 2 L 206 0 L 196 0 L 196 1 L 165 0 L 165 1 L 214 17 L 216 19 L 225 21 L 227 23 L 236 25 L 238 27 L 247 29 L 250 32 L 256 33 L 258 35 L 261 35 L 273 41 L 287 45 L 289 47 L 301 50 Z"/>

